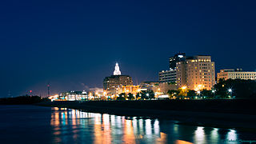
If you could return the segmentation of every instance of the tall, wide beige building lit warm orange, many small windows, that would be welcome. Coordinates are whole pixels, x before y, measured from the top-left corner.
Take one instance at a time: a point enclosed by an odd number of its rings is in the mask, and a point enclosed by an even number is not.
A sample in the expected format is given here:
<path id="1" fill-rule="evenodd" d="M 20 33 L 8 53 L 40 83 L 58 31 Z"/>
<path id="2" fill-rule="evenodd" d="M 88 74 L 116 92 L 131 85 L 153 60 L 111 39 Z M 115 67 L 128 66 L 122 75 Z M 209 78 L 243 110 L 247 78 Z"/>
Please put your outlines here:
<path id="1" fill-rule="evenodd" d="M 209 55 L 187 57 L 185 62 L 177 62 L 177 85 L 190 90 L 210 90 L 215 84 L 214 62 Z"/>

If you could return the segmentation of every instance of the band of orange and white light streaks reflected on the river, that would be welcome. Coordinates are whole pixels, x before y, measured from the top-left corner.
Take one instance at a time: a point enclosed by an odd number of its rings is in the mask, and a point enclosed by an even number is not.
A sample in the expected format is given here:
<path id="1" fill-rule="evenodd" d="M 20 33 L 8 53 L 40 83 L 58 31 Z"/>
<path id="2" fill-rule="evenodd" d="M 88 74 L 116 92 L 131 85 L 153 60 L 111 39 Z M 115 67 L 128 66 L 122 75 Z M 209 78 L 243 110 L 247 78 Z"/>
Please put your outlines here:
<path id="1" fill-rule="evenodd" d="M 52 108 L 50 125 L 58 143 L 237 143 L 236 130 L 178 125 L 169 120 Z"/>

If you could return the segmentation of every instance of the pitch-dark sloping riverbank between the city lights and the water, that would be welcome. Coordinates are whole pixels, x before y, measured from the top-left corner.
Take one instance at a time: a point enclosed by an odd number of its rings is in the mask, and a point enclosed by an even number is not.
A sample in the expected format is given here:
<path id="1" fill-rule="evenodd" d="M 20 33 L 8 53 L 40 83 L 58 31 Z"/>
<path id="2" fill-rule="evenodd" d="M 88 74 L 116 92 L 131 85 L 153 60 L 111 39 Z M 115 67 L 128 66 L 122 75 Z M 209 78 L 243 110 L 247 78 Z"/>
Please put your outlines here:
<path id="1" fill-rule="evenodd" d="M 94 113 L 170 118 L 180 123 L 256 130 L 256 101 L 246 99 L 41 102 Z"/>

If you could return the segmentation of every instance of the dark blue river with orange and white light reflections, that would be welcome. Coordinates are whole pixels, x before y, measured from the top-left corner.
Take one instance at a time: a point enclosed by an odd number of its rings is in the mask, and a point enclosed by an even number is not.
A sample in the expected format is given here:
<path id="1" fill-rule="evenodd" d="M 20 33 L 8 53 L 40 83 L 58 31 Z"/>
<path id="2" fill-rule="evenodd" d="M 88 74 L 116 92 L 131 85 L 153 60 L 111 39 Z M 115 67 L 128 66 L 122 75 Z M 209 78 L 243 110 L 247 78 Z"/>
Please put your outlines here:
<path id="1" fill-rule="evenodd" d="M 241 143 L 256 133 L 43 106 L 0 106 L 0 143 Z M 255 141 L 256 143 L 256 141 Z"/>

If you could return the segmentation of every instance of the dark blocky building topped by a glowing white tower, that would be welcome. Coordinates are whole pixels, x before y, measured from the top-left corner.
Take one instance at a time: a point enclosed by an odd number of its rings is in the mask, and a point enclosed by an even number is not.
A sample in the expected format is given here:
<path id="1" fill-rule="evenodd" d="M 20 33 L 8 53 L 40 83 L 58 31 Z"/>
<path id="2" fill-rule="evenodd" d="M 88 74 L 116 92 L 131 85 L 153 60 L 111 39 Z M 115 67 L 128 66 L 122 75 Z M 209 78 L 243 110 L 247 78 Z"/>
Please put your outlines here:
<path id="1" fill-rule="evenodd" d="M 103 90 L 106 91 L 106 94 L 116 95 L 122 86 L 133 86 L 133 80 L 129 75 L 121 75 L 118 63 L 116 63 L 114 75 L 106 77 L 103 80 Z"/>

